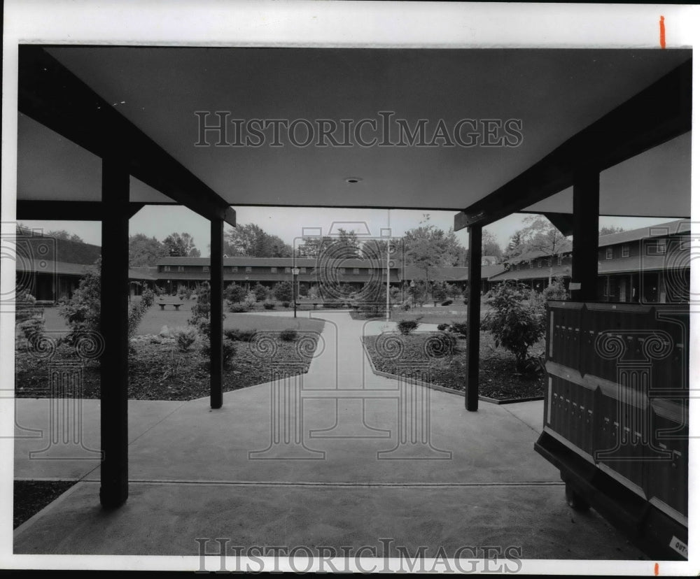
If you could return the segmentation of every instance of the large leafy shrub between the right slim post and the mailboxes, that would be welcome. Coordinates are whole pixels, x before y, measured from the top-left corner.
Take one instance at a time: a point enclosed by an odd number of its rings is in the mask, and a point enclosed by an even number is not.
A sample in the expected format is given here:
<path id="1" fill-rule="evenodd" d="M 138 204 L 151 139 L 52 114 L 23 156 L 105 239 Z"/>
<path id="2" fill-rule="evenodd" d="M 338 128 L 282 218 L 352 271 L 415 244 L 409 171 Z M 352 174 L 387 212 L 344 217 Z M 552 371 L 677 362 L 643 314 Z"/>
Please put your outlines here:
<path id="1" fill-rule="evenodd" d="M 542 301 L 529 297 L 519 287 L 495 287 L 486 299 L 491 311 L 482 321 L 482 329 L 491 333 L 496 347 L 502 345 L 514 355 L 518 371 L 526 370 L 528 349 L 545 333 Z"/>

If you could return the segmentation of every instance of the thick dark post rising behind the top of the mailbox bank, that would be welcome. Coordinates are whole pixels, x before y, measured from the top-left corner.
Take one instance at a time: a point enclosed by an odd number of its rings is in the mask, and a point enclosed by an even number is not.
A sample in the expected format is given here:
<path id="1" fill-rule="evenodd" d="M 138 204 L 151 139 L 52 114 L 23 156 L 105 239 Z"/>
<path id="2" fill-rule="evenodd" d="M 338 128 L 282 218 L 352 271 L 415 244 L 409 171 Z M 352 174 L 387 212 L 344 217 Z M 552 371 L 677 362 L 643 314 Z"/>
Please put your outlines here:
<path id="1" fill-rule="evenodd" d="M 595 301 L 598 294 L 598 213 L 600 213 L 600 173 L 581 171 L 573 183 L 573 251 L 571 290 L 573 301 Z"/>

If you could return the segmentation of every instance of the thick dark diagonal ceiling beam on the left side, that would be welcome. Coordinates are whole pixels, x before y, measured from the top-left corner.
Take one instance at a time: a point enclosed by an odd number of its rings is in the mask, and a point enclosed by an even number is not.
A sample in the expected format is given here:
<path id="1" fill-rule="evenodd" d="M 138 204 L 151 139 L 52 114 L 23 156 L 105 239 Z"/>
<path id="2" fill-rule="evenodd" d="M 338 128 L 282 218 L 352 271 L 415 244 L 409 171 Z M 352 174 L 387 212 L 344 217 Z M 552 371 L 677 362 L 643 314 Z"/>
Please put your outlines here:
<path id="1" fill-rule="evenodd" d="M 20 45 L 18 109 L 98 157 L 118 148 L 132 176 L 195 213 L 232 218 L 221 196 L 40 45 Z"/>

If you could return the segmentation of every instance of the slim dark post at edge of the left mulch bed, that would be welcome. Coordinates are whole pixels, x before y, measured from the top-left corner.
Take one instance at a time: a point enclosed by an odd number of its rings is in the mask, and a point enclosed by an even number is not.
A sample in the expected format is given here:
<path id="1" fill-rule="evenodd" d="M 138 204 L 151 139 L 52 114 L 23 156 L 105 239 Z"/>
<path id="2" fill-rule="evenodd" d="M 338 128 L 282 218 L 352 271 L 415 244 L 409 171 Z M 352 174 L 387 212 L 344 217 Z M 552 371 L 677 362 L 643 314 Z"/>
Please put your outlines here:
<path id="1" fill-rule="evenodd" d="M 211 408 L 223 405 L 223 220 L 211 220 Z"/>

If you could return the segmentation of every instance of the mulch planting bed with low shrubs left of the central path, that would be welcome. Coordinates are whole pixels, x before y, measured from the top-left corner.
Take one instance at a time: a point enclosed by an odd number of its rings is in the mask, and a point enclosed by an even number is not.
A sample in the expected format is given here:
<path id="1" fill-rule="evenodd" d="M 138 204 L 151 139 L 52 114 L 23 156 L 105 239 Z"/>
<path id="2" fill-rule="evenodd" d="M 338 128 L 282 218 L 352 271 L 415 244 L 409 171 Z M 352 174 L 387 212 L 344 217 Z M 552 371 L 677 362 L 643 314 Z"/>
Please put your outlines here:
<path id="1" fill-rule="evenodd" d="M 284 364 L 290 376 L 309 370 L 311 355 L 316 348 L 314 332 L 300 334 L 297 341 L 274 338 L 273 343 L 251 348 L 250 343 L 235 341 L 235 356 L 223 373 L 224 392 L 269 382 L 272 362 Z M 264 350 L 267 347 L 270 349 Z M 67 344 L 59 345 L 50 359 L 37 358 L 27 349 L 18 349 L 15 352 L 15 396 L 50 396 L 50 363 L 70 362 L 80 364 L 80 358 L 76 356 L 75 348 Z M 209 396 L 208 362 L 197 344 L 187 352 L 180 352 L 173 343 L 138 343 L 129 356 L 129 399 L 193 400 Z M 83 366 L 82 393 L 78 396 L 99 399 L 99 391 L 99 363 L 87 361 Z"/>

